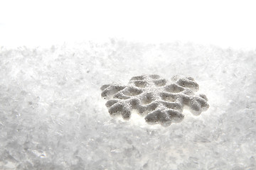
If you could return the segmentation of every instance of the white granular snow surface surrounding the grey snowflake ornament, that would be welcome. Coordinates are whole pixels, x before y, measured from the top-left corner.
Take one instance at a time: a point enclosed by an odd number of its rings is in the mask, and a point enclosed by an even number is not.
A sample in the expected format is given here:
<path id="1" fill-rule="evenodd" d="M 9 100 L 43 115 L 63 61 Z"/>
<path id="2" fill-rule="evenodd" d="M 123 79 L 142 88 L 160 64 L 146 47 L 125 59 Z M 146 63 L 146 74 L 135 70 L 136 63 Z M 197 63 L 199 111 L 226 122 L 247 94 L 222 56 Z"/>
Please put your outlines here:
<path id="1" fill-rule="evenodd" d="M 110 40 L 0 52 L 0 169 L 256 169 L 256 52 Z M 210 108 L 168 128 L 110 117 L 100 86 L 193 77 Z"/>

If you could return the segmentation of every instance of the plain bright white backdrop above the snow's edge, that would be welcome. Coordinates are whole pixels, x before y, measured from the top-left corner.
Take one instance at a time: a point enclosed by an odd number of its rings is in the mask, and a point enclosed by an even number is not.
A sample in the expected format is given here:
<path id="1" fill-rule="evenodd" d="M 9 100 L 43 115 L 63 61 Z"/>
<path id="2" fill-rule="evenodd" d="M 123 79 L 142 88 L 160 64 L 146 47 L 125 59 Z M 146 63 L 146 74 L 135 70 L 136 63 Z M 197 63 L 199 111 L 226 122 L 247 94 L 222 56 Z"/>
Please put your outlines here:
<path id="1" fill-rule="evenodd" d="M 124 38 L 255 50 L 255 1 L 0 1 L 0 46 Z"/>

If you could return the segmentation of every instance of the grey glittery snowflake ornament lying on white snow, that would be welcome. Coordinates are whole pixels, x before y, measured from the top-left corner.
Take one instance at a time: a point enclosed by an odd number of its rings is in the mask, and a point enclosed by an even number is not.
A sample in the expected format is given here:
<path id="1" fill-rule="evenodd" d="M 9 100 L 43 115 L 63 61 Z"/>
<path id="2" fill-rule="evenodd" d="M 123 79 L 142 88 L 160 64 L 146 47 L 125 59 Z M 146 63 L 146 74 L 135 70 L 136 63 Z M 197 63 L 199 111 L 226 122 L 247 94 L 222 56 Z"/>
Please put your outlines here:
<path id="1" fill-rule="evenodd" d="M 204 94 L 196 95 L 199 86 L 191 77 L 173 77 L 171 83 L 159 75 L 132 77 L 127 86 L 106 84 L 101 87 L 102 98 L 112 116 L 122 115 L 129 120 L 137 111 L 149 124 L 169 126 L 183 120 L 183 107 L 188 106 L 193 115 L 200 115 L 209 108 Z"/>

